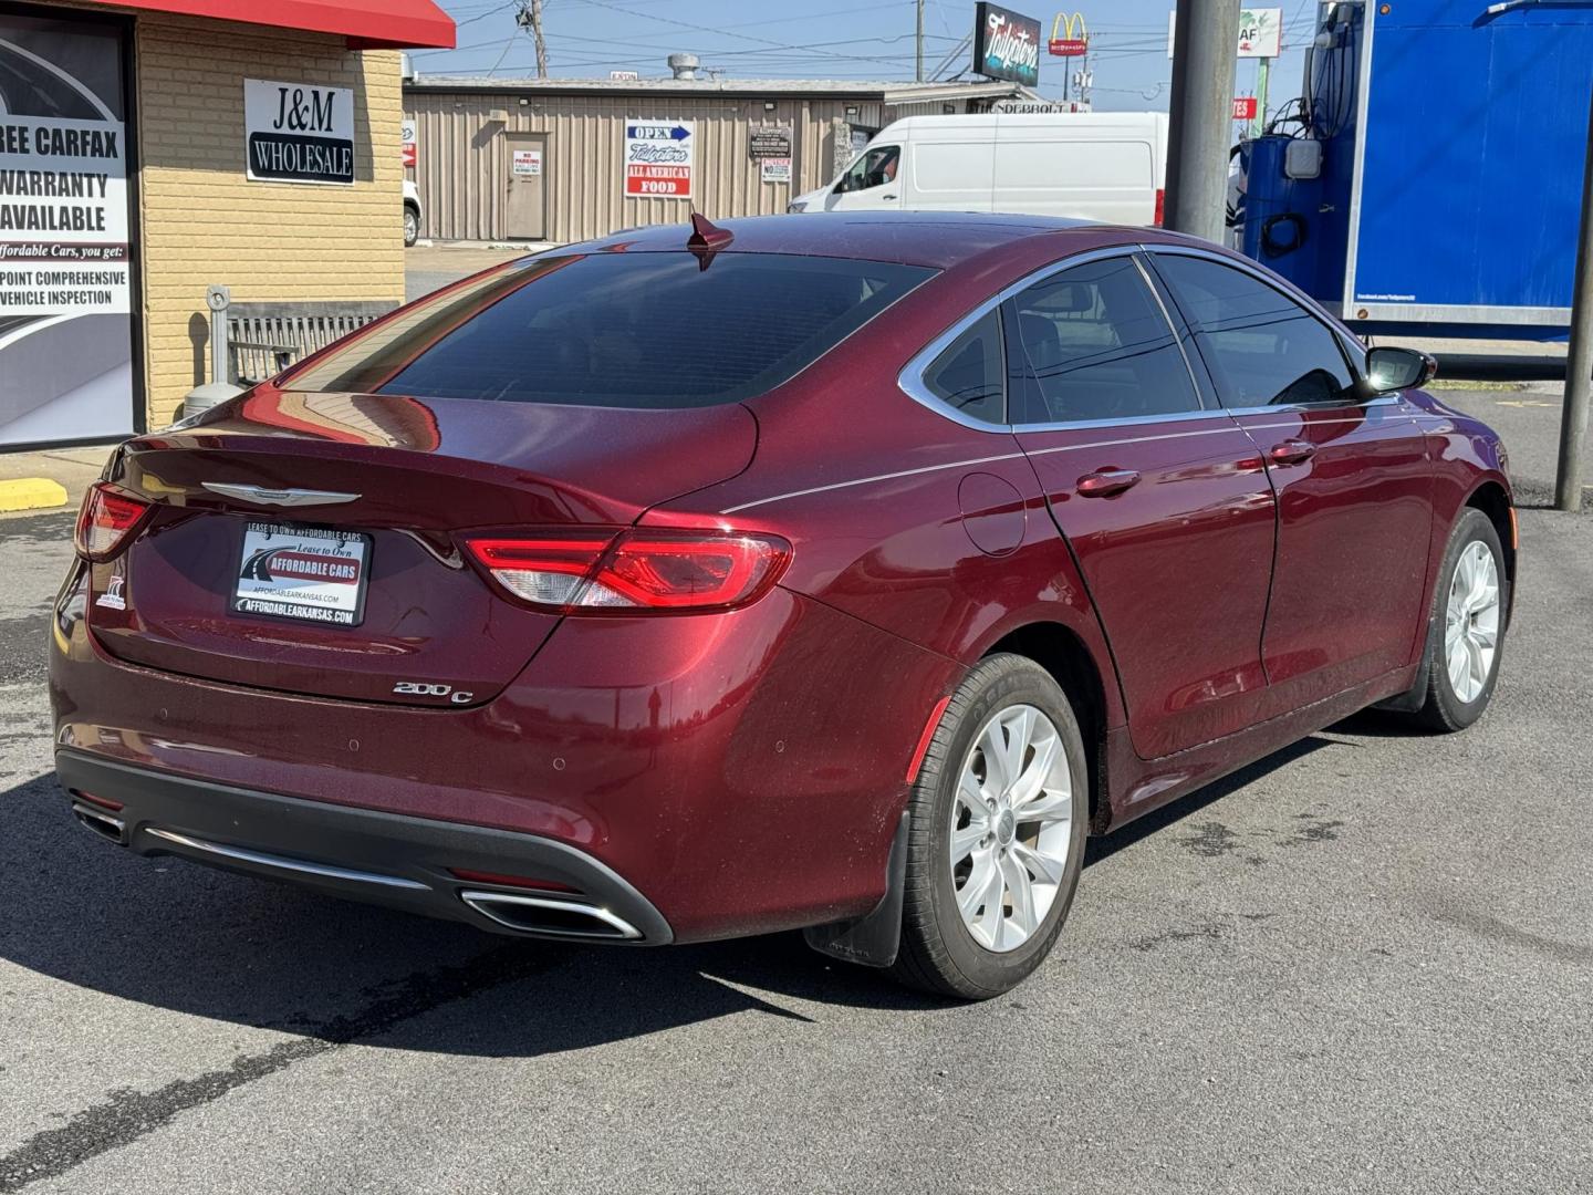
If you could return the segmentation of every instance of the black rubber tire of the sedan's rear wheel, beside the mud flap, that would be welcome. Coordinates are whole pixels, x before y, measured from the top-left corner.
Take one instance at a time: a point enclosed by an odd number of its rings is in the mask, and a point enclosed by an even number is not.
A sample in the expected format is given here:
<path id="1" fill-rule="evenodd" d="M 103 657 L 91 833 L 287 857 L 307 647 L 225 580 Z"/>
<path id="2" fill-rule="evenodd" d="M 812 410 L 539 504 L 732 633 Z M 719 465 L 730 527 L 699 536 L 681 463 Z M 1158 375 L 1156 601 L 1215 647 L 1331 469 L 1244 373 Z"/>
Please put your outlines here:
<path id="1" fill-rule="evenodd" d="M 964 762 L 984 725 L 1018 704 L 1034 706 L 1056 728 L 1072 779 L 1072 829 L 1066 868 L 1045 918 L 1023 945 L 997 953 L 981 945 L 964 924 L 948 844 Z M 1067 696 L 1051 674 L 1018 655 L 994 655 L 980 661 L 940 719 L 908 809 L 902 946 L 890 967 L 892 977 L 921 991 L 967 1001 L 1010 991 L 1051 951 L 1083 870 L 1090 816 L 1083 736 Z"/>

